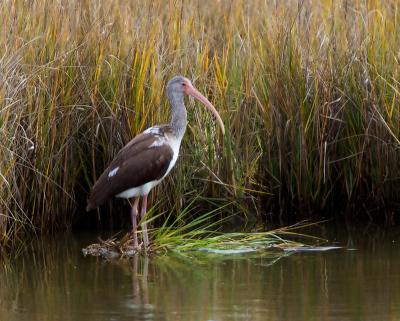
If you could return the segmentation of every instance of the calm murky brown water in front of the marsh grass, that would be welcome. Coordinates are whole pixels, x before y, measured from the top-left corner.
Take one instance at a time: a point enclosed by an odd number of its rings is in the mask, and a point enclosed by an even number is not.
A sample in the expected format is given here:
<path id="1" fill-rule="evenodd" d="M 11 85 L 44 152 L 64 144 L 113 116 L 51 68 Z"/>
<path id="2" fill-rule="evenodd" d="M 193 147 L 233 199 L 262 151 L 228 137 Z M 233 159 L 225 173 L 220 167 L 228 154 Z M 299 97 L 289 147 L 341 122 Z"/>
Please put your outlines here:
<path id="1" fill-rule="evenodd" d="M 399 233 L 337 235 L 346 248 L 114 262 L 83 257 L 94 235 L 34 241 L 0 260 L 0 320 L 400 320 Z"/>

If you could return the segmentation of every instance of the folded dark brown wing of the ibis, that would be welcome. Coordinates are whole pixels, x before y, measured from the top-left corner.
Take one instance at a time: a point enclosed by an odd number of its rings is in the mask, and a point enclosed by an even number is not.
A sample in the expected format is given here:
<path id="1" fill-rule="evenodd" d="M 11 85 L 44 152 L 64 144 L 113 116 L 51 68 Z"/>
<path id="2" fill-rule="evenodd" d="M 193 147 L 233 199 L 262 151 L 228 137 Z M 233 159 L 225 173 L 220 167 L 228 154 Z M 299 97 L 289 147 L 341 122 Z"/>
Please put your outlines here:
<path id="1" fill-rule="evenodd" d="M 127 189 L 162 178 L 172 160 L 173 150 L 169 145 L 150 147 L 162 136 L 162 133 L 143 133 L 125 145 L 94 184 L 86 210 L 102 205 Z"/>

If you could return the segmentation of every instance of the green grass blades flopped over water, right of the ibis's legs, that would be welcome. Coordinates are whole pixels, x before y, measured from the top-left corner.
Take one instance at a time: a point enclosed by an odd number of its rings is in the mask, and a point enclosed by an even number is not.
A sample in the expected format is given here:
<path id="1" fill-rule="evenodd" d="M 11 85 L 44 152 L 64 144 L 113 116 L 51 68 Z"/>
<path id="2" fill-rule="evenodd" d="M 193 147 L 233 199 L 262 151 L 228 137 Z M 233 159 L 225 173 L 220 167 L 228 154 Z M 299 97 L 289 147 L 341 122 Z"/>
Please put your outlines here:
<path id="1" fill-rule="evenodd" d="M 160 227 L 150 232 L 152 251 L 245 253 L 267 250 L 273 246 L 295 246 L 296 242 L 285 239 L 289 235 L 292 238 L 306 237 L 295 233 L 294 230 L 299 227 L 297 225 L 268 232 L 229 232 L 223 228 L 224 222 L 230 219 L 221 218 L 223 207 L 198 215 L 198 210 L 192 208 L 195 202 L 196 199 L 176 215 L 171 212 Z M 148 223 L 156 218 L 152 217 Z"/>

